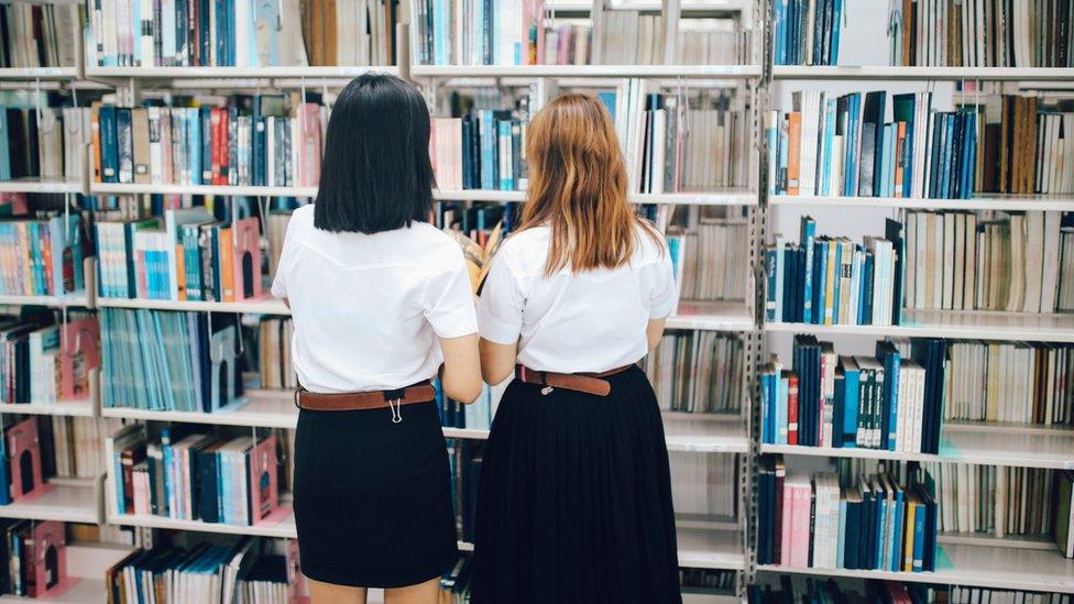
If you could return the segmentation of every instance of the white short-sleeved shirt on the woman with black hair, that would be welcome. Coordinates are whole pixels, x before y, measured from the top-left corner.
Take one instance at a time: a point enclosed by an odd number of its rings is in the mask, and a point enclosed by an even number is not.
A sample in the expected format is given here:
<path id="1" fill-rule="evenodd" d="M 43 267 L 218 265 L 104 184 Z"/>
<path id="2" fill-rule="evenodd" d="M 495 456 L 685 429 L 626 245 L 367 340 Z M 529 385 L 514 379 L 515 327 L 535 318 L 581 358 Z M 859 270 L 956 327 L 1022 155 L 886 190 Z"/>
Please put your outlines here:
<path id="1" fill-rule="evenodd" d="M 435 227 L 375 234 L 314 227 L 295 210 L 272 295 L 287 298 L 298 382 L 311 392 L 394 389 L 434 376 L 437 336 L 478 331 L 459 244 Z"/>

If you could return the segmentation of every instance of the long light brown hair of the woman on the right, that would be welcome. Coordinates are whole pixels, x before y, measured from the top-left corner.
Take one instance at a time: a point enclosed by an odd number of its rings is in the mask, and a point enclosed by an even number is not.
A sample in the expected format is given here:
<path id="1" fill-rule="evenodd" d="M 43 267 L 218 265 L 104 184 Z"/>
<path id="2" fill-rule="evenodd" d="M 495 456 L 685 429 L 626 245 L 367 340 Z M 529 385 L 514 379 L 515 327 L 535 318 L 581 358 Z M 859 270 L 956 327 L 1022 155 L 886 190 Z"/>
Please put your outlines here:
<path id="1" fill-rule="evenodd" d="M 615 128 L 592 95 L 562 95 L 534 116 L 526 132 L 529 186 L 520 229 L 548 224 L 545 274 L 615 268 L 629 262 L 637 227 L 660 235 L 626 200 L 626 166 Z"/>

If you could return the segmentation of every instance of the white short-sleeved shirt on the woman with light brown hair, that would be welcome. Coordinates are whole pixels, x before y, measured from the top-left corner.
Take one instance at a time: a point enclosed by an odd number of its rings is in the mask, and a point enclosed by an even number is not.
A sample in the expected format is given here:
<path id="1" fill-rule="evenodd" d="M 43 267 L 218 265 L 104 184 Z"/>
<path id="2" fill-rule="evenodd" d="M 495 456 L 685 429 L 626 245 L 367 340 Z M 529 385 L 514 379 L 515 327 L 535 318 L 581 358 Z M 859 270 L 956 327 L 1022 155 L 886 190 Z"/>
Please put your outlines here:
<path id="1" fill-rule="evenodd" d="M 501 246 L 478 305 L 481 337 L 517 341 L 518 362 L 538 371 L 601 372 L 639 361 L 649 319 L 671 315 L 678 301 L 667 243 L 639 226 L 628 264 L 545 276 L 550 238 L 538 227 Z"/>

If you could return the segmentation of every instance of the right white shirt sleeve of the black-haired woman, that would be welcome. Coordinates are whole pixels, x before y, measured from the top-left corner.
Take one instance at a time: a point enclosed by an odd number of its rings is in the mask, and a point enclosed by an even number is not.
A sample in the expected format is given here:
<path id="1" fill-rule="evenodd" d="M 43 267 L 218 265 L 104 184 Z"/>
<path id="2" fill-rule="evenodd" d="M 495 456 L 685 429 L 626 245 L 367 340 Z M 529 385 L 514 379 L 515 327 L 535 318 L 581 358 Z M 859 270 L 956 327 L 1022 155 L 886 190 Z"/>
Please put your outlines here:
<path id="1" fill-rule="evenodd" d="M 441 338 L 478 332 L 470 273 L 461 249 L 457 249 L 451 260 L 426 282 L 423 308 L 425 318 Z"/>

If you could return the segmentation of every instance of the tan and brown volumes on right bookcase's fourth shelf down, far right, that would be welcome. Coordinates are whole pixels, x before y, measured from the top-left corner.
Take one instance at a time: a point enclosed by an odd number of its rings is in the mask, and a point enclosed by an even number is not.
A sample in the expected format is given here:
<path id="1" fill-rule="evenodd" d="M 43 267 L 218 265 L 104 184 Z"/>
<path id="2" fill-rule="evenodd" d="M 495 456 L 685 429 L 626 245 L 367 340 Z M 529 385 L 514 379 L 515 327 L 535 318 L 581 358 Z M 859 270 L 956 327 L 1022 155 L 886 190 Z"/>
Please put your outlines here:
<path id="1" fill-rule="evenodd" d="M 944 419 L 1074 424 L 1074 347 L 951 342 Z"/>

